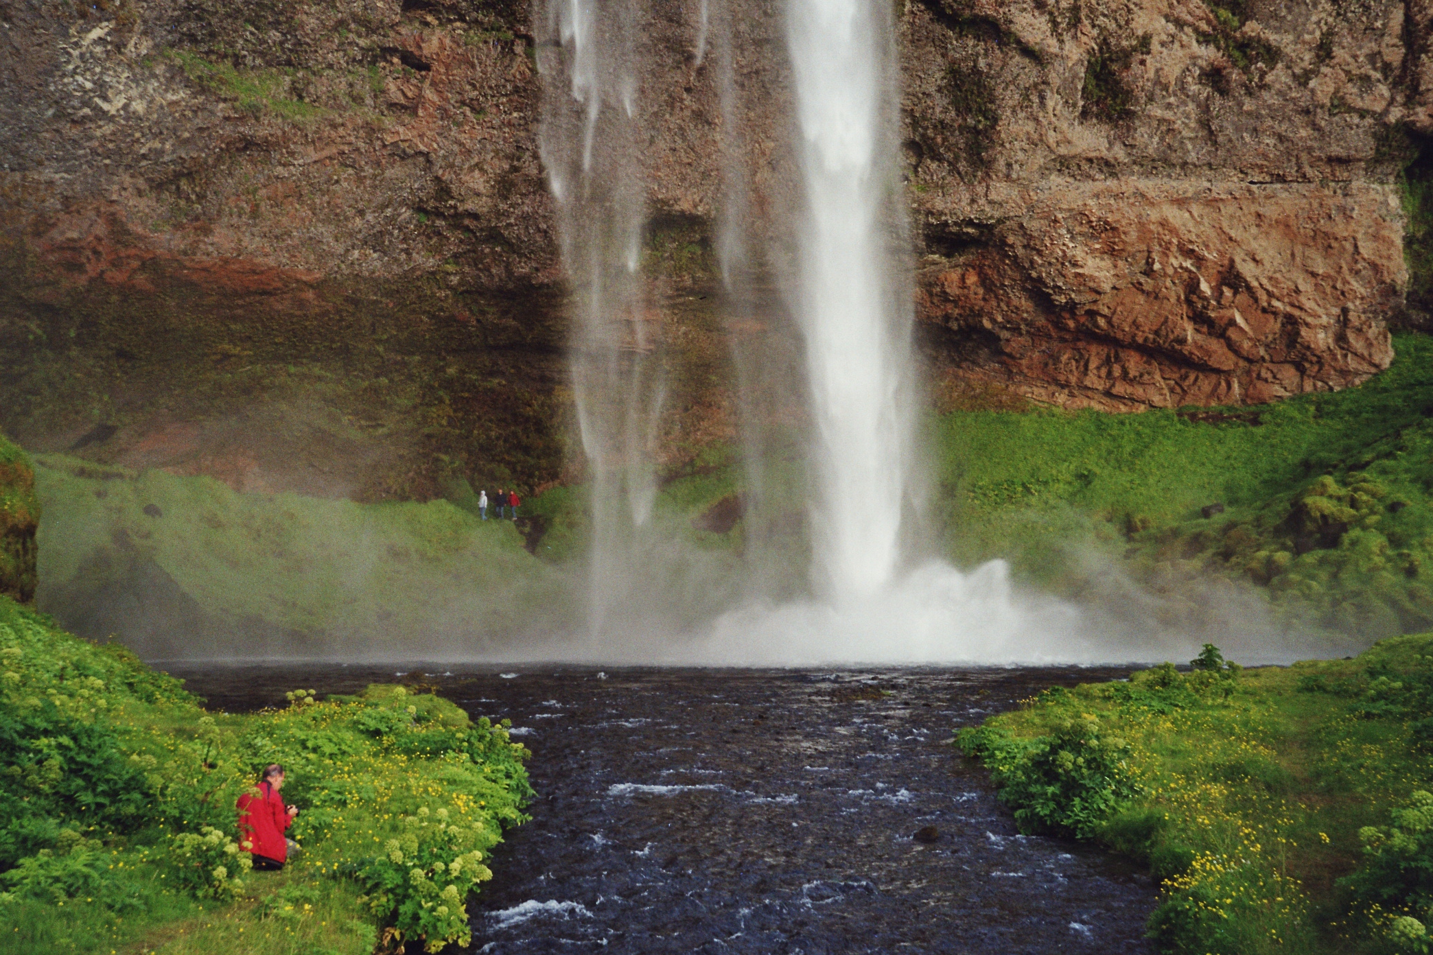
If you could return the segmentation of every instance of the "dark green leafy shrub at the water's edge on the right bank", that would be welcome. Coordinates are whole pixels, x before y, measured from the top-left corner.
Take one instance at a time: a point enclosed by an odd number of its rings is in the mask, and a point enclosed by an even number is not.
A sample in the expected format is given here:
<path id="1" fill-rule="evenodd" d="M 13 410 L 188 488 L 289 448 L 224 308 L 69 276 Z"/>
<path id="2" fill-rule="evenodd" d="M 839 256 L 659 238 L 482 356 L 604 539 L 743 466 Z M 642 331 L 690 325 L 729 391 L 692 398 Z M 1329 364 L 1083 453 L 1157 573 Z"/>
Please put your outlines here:
<path id="1" fill-rule="evenodd" d="M 959 742 L 990 766 L 1000 802 L 1015 809 L 1022 832 L 1089 838 L 1139 793 L 1128 743 L 1102 735 L 1099 719 L 1089 713 L 1033 740 L 980 727 L 963 730 Z"/>

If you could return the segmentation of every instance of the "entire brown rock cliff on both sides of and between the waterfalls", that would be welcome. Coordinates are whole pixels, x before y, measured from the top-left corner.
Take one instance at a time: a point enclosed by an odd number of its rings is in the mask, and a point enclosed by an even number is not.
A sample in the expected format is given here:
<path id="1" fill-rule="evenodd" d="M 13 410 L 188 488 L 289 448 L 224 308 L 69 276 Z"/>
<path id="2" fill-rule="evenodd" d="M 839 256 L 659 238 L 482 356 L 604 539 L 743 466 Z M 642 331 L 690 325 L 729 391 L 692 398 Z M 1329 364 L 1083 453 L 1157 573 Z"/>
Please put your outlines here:
<path id="1" fill-rule="evenodd" d="M 937 372 L 1138 409 L 1387 365 L 1433 17 L 1231 4 L 898 11 Z M 729 74 L 715 46 L 698 56 L 695 3 L 655 1 L 641 39 L 674 465 L 731 430 L 711 252 L 727 76 L 752 218 L 791 202 L 780 6 L 724 10 Z M 559 477 L 565 291 L 530 19 L 474 0 L 0 0 L 0 427 L 245 490 Z"/>

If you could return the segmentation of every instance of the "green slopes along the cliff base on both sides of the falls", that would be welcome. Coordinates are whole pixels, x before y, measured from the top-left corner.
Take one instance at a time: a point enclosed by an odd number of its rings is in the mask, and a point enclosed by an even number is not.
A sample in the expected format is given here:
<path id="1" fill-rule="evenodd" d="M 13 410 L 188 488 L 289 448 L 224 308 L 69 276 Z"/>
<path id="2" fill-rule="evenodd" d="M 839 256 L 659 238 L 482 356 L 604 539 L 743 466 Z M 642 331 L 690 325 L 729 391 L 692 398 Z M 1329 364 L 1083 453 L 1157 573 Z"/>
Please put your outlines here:
<path id="1" fill-rule="evenodd" d="M 1088 593 L 1118 566 L 1175 591 L 1209 576 L 1242 581 L 1297 629 L 1369 641 L 1430 629 L 1433 338 L 1394 344 L 1393 368 L 1367 384 L 1268 407 L 931 418 L 933 531 L 959 566 L 1005 557 L 1023 583 L 1062 596 Z M 801 563 L 805 484 L 794 464 L 772 468 L 771 527 L 702 527 L 708 508 L 742 488 L 725 445 L 663 480 L 653 527 L 694 544 L 691 558 L 722 586 L 735 586 L 752 544 L 790 538 L 788 563 Z M 120 629 L 99 613 L 113 594 L 165 587 L 228 634 L 216 651 L 248 640 L 254 620 L 314 651 L 381 646 L 393 633 L 420 649 L 457 646 L 460 634 L 476 650 L 580 613 L 565 564 L 590 533 L 582 487 L 524 500 L 524 540 L 512 523 L 477 520 L 474 484 L 456 472 L 441 488 L 449 500 L 426 504 L 238 494 L 209 478 L 60 455 L 43 457 L 36 474 L 47 513 L 39 598 L 89 636 Z M 489 491 L 499 483 L 483 480 Z M 1205 517 L 1214 504 L 1222 513 Z"/>

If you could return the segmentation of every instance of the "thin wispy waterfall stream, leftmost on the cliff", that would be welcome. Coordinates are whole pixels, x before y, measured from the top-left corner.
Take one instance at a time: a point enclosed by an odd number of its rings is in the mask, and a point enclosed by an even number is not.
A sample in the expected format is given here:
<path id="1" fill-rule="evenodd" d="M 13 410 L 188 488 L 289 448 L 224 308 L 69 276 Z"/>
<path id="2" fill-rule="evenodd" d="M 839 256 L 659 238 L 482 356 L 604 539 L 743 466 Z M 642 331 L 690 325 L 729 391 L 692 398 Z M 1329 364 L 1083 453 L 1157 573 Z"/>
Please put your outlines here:
<path id="1" fill-rule="evenodd" d="M 592 633 L 626 603 L 636 533 L 652 517 L 665 398 L 659 322 L 646 301 L 646 183 L 633 37 L 638 0 L 553 0 L 539 40 L 543 165 L 573 289 L 572 381 L 592 488 Z"/>

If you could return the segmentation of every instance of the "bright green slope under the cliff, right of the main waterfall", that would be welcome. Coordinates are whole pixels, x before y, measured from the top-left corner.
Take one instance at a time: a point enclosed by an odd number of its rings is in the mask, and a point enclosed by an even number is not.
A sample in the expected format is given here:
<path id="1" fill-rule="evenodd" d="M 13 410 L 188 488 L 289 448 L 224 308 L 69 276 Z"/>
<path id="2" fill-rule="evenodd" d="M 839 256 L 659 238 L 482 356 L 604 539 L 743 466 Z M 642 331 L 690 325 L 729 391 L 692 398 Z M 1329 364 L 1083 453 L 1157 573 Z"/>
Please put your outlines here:
<path id="1" fill-rule="evenodd" d="M 1248 581 L 1307 626 L 1427 630 L 1433 338 L 1394 346 L 1367 384 L 1277 405 L 952 412 L 934 432 L 953 557 L 1076 593 L 1103 553 L 1145 580 Z"/>

